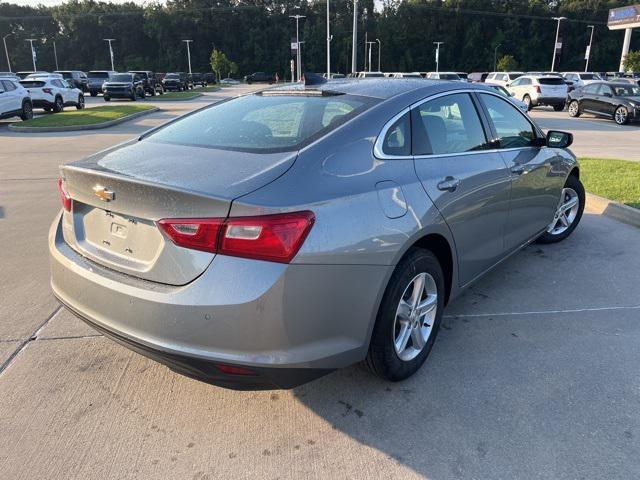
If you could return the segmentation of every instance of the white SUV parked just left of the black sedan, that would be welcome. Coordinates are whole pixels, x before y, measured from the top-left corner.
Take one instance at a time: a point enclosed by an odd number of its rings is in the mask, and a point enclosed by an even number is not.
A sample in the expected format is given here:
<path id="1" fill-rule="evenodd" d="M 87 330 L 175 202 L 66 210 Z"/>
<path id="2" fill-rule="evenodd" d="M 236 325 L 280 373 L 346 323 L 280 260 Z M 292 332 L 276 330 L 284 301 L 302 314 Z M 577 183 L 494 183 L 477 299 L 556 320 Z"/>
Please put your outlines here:
<path id="1" fill-rule="evenodd" d="M 523 75 L 508 84 L 507 90 L 526 103 L 529 110 L 549 105 L 556 112 L 564 110 L 569 93 L 564 78 L 555 75 Z"/>

